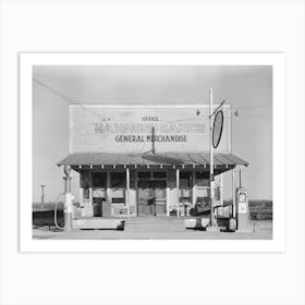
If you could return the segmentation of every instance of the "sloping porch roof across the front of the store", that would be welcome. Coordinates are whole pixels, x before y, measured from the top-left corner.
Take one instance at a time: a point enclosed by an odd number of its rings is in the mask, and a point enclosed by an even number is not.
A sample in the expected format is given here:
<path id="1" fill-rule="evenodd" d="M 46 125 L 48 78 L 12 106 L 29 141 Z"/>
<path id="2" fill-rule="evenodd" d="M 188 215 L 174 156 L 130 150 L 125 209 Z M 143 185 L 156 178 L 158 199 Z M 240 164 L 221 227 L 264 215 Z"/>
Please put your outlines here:
<path id="1" fill-rule="evenodd" d="M 209 152 L 162 154 L 109 154 L 75 152 L 57 163 L 60 166 L 209 166 Z M 213 154 L 216 167 L 248 166 L 248 162 L 232 154 Z"/>

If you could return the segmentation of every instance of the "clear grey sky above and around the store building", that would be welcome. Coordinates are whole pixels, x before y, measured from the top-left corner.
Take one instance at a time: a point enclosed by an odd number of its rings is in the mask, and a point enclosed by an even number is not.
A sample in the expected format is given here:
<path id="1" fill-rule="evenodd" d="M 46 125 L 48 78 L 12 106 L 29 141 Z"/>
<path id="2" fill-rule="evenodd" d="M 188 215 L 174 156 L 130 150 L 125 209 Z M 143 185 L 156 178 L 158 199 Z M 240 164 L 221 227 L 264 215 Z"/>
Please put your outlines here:
<path id="1" fill-rule="evenodd" d="M 223 99 L 233 117 L 232 152 L 249 162 L 242 184 L 251 199 L 272 199 L 271 66 L 34 66 L 33 202 L 53 202 L 63 191 L 63 170 L 56 163 L 69 155 L 69 105 L 208 105 Z M 232 197 L 224 174 L 224 198 Z M 72 192 L 78 196 L 78 174 Z"/>

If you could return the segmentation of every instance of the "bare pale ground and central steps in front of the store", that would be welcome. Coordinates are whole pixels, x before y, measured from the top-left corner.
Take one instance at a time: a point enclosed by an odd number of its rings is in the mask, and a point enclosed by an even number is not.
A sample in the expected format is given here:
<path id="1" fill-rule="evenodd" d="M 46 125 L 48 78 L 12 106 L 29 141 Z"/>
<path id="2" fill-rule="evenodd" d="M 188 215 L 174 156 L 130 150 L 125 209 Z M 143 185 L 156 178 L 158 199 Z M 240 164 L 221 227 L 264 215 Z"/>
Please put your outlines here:
<path id="1" fill-rule="evenodd" d="M 174 223 L 134 222 L 125 219 L 125 230 L 80 230 L 70 232 L 49 230 L 47 227 L 33 229 L 33 239 L 38 240 L 271 240 L 272 221 L 253 221 L 253 233 L 206 232 L 184 228 L 183 219 Z"/>

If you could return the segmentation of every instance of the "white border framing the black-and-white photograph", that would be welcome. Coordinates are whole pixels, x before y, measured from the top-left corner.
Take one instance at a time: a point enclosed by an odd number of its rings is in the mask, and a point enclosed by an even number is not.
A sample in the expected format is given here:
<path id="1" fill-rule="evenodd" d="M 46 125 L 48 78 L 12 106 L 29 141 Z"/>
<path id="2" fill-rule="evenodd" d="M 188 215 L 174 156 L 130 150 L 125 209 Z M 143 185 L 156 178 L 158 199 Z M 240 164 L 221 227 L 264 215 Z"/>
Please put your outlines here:
<path id="1" fill-rule="evenodd" d="M 283 53 L 22 53 L 21 252 L 283 252 L 285 248 L 285 72 Z M 33 65 L 272 65 L 273 239 L 272 240 L 33 240 L 32 71 Z M 281 167 L 277 166 L 281 164 Z"/>

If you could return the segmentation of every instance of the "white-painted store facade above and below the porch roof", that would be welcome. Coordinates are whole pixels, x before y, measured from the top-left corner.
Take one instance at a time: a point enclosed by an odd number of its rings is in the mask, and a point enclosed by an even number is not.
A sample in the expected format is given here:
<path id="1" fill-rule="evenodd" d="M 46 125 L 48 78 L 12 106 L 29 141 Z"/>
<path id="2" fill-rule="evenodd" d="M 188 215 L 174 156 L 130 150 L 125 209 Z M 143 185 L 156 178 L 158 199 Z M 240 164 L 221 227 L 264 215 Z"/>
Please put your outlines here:
<path id="1" fill-rule="evenodd" d="M 157 154 L 208 151 L 208 106 L 202 105 L 154 107 L 71 105 L 70 152 L 141 155 L 151 150 L 154 135 Z M 222 137 L 216 151 L 225 154 L 231 152 L 229 106 L 223 108 L 223 114 Z M 152 127 L 155 133 L 151 134 Z M 136 164 L 133 164 L 126 169 L 117 164 L 96 167 L 87 163 L 78 168 L 74 167 L 74 170 L 81 174 L 80 213 L 82 217 L 141 216 L 142 196 L 148 196 L 146 193 L 151 188 L 155 190 L 154 194 L 159 192 L 158 196 L 160 196 L 156 203 L 157 215 L 186 216 L 197 203 L 203 202 L 208 205 L 209 176 L 206 168 L 195 166 L 185 169 L 178 169 L 174 166 L 136 168 Z M 142 179 L 141 172 L 149 172 L 150 178 Z M 156 172 L 164 176 L 156 179 L 154 178 Z M 112 185 L 113 176 L 118 173 L 121 178 L 123 175 L 125 178 L 120 187 Z M 100 185 L 95 184 L 94 176 L 100 176 L 102 181 Z M 219 192 L 218 195 L 216 194 L 216 204 L 221 205 L 221 174 L 216 176 L 216 184 L 218 185 L 216 190 Z M 141 185 L 145 186 L 141 187 Z M 100 211 L 96 209 L 97 202 Z"/>

